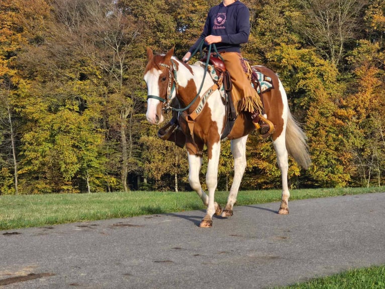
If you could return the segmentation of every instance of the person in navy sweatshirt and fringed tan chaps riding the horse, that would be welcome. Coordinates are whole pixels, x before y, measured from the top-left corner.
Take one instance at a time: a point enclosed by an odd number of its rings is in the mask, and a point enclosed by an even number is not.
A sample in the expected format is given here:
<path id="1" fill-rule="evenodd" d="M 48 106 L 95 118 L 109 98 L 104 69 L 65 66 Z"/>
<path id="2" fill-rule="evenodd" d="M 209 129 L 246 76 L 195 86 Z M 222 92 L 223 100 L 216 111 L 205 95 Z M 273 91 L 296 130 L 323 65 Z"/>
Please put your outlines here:
<path id="1" fill-rule="evenodd" d="M 249 64 L 241 55 L 241 44 L 249 39 L 249 17 L 249 9 L 239 0 L 223 0 L 219 5 L 212 7 L 201 36 L 182 60 L 187 61 L 203 39 L 207 45 L 215 43 L 224 59 L 226 69 L 230 72 L 234 100 L 239 102 L 240 110 L 251 113 L 254 125 L 261 128 L 261 134 L 265 134 L 270 127 L 260 120 L 262 103 L 256 90 L 251 86 Z"/>

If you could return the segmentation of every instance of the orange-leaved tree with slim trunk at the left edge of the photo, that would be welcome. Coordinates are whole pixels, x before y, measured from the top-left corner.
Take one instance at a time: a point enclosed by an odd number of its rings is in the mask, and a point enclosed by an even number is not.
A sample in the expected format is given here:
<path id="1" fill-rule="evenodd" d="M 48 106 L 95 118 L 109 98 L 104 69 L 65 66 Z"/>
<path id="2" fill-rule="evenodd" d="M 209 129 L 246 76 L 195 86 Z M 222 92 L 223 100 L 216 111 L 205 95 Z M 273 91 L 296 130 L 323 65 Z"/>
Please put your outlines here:
<path id="1" fill-rule="evenodd" d="M 0 2 L 0 154 L 5 156 L 5 164 L 12 163 L 15 193 L 19 193 L 18 185 L 18 156 L 17 156 L 17 127 L 15 106 L 12 93 L 17 89 L 19 82 L 18 71 L 14 61 L 22 47 L 27 44 L 30 36 L 30 27 L 34 23 L 34 30 L 39 31 L 41 20 L 47 14 L 47 6 L 37 1 L 34 7 L 26 5 L 25 1 Z M 34 9 L 39 13 L 35 14 Z M 28 22 L 27 18 L 36 19 Z M 9 158 L 11 156 L 11 158 Z M 7 165 L 2 165 L 2 172 L 8 172 Z M 7 179 L 7 178 L 6 178 Z"/>

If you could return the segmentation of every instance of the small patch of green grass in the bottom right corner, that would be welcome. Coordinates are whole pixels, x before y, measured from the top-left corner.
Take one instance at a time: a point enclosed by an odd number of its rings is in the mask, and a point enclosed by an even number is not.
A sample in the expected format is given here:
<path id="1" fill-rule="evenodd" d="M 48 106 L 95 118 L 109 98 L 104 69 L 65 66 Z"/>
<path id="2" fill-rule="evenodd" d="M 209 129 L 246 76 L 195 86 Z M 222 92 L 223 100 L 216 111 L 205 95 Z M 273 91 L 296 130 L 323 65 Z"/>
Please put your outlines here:
<path id="1" fill-rule="evenodd" d="M 352 269 L 328 277 L 311 279 L 304 283 L 278 287 L 279 289 L 383 289 L 385 266 Z"/>

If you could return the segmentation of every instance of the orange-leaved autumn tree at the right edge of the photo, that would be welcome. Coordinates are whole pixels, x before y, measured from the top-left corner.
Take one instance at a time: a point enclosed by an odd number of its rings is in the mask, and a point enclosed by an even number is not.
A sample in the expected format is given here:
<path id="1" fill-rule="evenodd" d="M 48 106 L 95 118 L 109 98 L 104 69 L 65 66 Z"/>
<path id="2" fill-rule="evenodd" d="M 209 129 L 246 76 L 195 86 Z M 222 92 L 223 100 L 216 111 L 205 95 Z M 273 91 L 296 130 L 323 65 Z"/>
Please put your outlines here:
<path id="1" fill-rule="evenodd" d="M 359 185 L 369 186 L 376 174 L 381 182 L 383 171 L 384 71 L 379 69 L 383 55 L 379 43 L 360 41 L 348 58 L 353 79 L 341 97 L 339 117 L 345 123 L 346 149 L 352 154 L 351 174 Z"/>

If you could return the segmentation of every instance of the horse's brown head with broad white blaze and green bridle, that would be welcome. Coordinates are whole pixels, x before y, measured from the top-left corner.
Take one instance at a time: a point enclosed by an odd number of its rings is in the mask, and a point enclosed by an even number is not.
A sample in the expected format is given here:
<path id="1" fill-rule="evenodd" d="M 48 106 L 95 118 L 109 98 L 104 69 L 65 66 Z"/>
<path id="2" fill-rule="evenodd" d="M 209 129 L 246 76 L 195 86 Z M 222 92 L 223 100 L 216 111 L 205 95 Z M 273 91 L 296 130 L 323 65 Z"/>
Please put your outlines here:
<path id="1" fill-rule="evenodd" d="M 147 85 L 147 120 L 151 124 L 163 122 L 162 108 L 175 96 L 171 61 L 174 48 L 171 48 L 165 55 L 154 55 L 150 48 L 147 48 L 148 62 L 144 71 L 144 81 Z"/>

